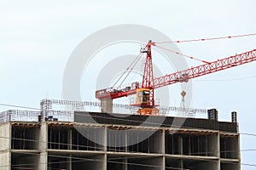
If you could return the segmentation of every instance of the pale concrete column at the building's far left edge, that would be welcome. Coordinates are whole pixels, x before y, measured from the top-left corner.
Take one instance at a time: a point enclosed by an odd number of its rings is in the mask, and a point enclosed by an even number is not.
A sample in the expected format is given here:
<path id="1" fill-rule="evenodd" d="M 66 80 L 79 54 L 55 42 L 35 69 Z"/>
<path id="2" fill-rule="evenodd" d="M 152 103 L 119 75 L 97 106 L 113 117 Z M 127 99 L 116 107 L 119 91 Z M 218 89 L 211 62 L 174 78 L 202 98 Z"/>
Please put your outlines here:
<path id="1" fill-rule="evenodd" d="M 11 123 L 0 123 L 0 170 L 11 169 Z"/>

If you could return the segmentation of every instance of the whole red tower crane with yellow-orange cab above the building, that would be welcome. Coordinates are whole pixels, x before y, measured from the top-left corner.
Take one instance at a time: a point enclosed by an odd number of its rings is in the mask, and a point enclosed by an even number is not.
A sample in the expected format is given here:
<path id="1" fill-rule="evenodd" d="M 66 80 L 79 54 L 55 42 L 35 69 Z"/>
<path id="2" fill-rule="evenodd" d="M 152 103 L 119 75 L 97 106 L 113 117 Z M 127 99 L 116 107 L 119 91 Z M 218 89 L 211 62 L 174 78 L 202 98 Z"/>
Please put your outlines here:
<path id="1" fill-rule="evenodd" d="M 216 71 L 223 71 L 238 65 L 244 65 L 256 60 L 256 49 L 245 53 L 236 54 L 224 59 L 218 59 L 212 62 L 203 61 L 205 64 L 191 67 L 184 71 L 177 71 L 172 74 L 154 78 L 151 47 L 155 46 L 155 42 L 149 41 L 145 48 L 141 49 L 141 53 L 147 54 L 143 71 L 143 81 L 133 82 L 131 86 L 123 89 L 105 88 L 96 91 L 96 99 L 110 103 L 112 107 L 113 99 L 127 97 L 136 94 L 136 103 L 131 104 L 140 107 L 137 111 L 138 115 L 158 116 L 159 110 L 156 108 L 154 101 L 154 89 L 165 87 L 177 82 L 188 82 L 189 79 L 201 77 Z M 109 108 L 108 108 L 109 110 Z M 111 110 L 111 109 L 110 109 Z"/>

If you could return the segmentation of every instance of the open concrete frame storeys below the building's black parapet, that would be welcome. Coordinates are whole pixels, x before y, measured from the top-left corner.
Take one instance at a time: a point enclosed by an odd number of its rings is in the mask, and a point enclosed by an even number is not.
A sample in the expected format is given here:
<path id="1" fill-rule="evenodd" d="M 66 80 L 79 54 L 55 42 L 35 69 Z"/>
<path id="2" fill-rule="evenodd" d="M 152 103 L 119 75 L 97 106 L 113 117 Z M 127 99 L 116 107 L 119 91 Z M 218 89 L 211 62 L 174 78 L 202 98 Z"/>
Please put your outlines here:
<path id="1" fill-rule="evenodd" d="M 239 136 L 232 133 L 66 122 L 12 124 L 0 124 L 0 170 L 11 169 L 10 164 L 39 170 L 240 169 Z"/>

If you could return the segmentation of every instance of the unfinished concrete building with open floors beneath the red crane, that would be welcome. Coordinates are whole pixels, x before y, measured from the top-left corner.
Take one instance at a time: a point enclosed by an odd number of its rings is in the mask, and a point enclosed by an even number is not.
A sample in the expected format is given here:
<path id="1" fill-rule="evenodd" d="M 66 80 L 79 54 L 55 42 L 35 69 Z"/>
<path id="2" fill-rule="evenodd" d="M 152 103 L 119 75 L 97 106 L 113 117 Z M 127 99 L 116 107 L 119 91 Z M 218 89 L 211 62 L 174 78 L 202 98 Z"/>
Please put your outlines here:
<path id="1" fill-rule="evenodd" d="M 75 111 L 54 111 L 53 104 Z M 41 111 L 0 114 L 0 169 L 239 170 L 236 112 L 208 117 L 88 112 L 85 102 L 44 99 Z M 172 108 L 173 109 L 173 108 Z"/>

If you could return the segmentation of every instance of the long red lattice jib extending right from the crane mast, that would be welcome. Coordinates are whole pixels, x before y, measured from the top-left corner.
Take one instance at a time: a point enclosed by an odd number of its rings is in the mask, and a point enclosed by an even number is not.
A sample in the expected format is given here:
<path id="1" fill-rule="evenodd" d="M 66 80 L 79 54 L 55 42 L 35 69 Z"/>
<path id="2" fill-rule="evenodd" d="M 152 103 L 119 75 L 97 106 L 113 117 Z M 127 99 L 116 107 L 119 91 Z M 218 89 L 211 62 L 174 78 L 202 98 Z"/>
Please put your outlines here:
<path id="1" fill-rule="evenodd" d="M 154 78 L 153 88 L 160 88 L 166 85 L 174 84 L 176 82 L 188 82 L 189 79 L 195 77 L 201 77 L 216 71 L 223 71 L 225 69 L 229 69 L 238 65 L 243 65 L 255 60 L 256 49 L 253 49 L 252 51 L 248 51 L 242 54 L 236 54 L 225 59 L 218 59 L 205 65 L 192 67 L 188 70 L 177 71 L 164 77 Z"/>

